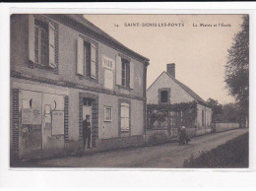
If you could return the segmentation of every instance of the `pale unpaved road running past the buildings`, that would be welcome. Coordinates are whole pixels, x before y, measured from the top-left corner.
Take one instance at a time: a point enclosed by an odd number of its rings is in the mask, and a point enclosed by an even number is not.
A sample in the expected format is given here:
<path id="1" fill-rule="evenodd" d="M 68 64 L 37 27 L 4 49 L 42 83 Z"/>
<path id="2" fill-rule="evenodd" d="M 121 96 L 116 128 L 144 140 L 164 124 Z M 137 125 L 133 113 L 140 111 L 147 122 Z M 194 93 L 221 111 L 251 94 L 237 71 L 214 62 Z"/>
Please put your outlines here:
<path id="1" fill-rule="evenodd" d="M 248 129 L 235 129 L 222 133 L 195 137 L 188 145 L 178 146 L 167 143 L 153 147 L 129 148 L 82 157 L 61 159 L 38 159 L 30 161 L 30 167 L 122 167 L 122 168 L 179 168 L 191 155 L 198 157 L 200 152 L 210 151 L 227 141 L 248 132 Z"/>

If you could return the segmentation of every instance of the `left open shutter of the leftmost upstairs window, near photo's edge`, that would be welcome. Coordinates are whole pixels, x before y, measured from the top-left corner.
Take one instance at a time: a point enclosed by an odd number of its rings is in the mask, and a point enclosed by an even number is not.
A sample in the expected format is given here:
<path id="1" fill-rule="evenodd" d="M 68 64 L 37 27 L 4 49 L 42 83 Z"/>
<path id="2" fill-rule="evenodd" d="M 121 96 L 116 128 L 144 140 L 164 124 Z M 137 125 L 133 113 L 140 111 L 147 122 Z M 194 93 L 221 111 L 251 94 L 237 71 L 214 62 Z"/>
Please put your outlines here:
<path id="1" fill-rule="evenodd" d="M 29 15 L 29 60 L 34 63 L 34 18 Z"/>

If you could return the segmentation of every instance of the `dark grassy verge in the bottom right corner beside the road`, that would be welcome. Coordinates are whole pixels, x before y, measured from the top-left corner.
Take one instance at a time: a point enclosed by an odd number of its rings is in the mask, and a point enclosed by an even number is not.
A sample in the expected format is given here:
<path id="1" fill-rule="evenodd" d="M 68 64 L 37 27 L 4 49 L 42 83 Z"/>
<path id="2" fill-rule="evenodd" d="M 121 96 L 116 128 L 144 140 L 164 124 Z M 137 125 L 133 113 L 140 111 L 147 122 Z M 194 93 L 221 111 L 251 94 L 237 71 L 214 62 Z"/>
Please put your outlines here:
<path id="1" fill-rule="evenodd" d="M 183 167 L 248 167 L 249 134 L 234 138 L 209 152 L 202 152 L 198 158 L 191 155 L 185 159 Z"/>

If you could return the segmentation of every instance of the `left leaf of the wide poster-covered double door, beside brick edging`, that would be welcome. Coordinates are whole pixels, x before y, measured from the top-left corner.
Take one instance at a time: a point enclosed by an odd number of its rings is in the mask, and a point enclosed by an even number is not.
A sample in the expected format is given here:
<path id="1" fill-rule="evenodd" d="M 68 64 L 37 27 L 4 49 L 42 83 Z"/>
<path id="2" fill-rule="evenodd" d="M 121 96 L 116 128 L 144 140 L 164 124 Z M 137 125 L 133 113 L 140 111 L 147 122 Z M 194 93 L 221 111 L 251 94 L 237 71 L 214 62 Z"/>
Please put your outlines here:
<path id="1" fill-rule="evenodd" d="M 41 93 L 22 91 L 20 104 L 20 159 L 41 157 Z"/>

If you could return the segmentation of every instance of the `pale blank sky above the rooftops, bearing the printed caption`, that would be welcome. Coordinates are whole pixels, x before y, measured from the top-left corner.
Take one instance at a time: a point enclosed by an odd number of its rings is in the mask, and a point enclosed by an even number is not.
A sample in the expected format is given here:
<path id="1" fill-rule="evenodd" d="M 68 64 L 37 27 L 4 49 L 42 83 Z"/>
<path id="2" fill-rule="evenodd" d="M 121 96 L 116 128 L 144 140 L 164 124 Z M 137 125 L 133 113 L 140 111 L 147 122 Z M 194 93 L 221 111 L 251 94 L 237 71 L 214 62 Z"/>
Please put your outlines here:
<path id="1" fill-rule="evenodd" d="M 84 16 L 150 59 L 147 88 L 166 71 L 167 63 L 175 63 L 176 79 L 205 100 L 234 101 L 225 89 L 224 65 L 233 36 L 240 31 L 242 15 Z"/>

